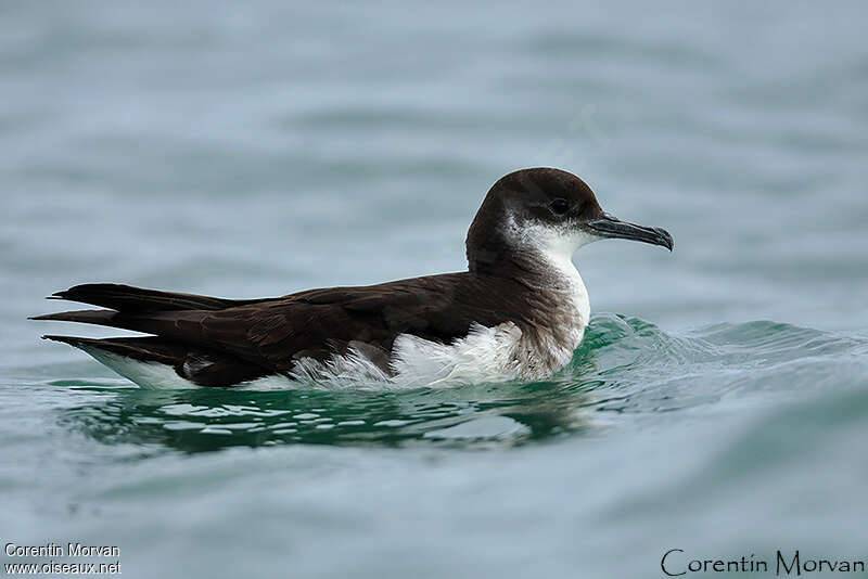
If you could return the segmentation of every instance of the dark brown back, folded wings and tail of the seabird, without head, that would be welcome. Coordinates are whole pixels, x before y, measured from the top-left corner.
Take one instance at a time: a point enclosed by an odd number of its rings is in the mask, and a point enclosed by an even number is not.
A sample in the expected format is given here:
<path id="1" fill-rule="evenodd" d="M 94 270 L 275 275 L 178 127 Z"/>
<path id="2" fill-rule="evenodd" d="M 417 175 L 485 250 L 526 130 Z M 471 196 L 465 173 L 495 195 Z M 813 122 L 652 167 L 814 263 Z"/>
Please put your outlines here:
<path id="1" fill-rule="evenodd" d="M 35 318 L 132 330 L 156 337 L 86 340 L 46 336 L 101 348 L 145 362 L 173 365 L 202 386 L 231 386 L 291 372 L 301 358 L 329 360 L 350 348 L 390 372 L 400 334 L 450 344 L 474 323 L 511 321 L 523 332 L 540 323 L 545 296 L 514 280 L 472 272 L 412 278 L 363 287 L 311 290 L 256 301 L 88 284 L 64 296 L 118 309 L 80 310 Z M 190 309 L 179 308 L 179 305 Z M 165 308 L 165 309 L 161 309 Z"/>

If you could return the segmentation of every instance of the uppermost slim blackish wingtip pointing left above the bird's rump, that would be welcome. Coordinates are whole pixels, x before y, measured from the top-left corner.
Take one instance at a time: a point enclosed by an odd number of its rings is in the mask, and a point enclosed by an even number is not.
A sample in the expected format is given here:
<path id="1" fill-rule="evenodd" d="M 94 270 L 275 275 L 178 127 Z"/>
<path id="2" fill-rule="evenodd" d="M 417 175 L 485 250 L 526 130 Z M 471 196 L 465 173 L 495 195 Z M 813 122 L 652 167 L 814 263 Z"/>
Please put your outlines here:
<path id="1" fill-rule="evenodd" d="M 178 310 L 221 310 L 253 304 L 255 301 L 263 301 L 261 299 L 226 299 L 195 294 L 159 292 L 156 290 L 145 290 L 114 283 L 88 283 L 76 285 L 64 292 L 53 294 L 50 299 L 66 299 L 129 313 Z"/>

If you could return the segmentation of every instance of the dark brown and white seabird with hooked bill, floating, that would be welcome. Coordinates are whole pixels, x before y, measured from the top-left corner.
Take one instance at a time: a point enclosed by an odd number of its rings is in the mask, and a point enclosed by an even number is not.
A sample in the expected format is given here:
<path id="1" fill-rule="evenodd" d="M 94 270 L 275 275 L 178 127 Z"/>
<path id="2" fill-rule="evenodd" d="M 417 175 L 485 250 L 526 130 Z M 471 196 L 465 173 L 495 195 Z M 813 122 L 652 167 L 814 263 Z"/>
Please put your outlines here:
<path id="1" fill-rule="evenodd" d="M 673 249 L 665 230 L 604 213 L 575 175 L 522 169 L 498 180 L 476 213 L 468 271 L 243 300 L 85 284 L 50 299 L 104 309 L 33 319 L 149 334 L 43 336 L 146 388 L 275 376 L 413 385 L 538 379 L 566 365 L 582 342 L 590 305 L 572 255 L 602 239 Z"/>

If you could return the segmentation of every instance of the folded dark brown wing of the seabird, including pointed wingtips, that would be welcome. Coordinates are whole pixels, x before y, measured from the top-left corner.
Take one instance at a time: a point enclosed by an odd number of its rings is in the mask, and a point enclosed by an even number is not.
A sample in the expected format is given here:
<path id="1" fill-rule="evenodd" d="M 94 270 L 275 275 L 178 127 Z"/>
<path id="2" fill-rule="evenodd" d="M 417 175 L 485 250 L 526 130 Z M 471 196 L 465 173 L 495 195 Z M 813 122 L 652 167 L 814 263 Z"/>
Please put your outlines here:
<path id="1" fill-rule="evenodd" d="M 87 291 L 73 288 L 59 295 L 123 309 L 65 312 L 42 319 L 133 330 L 284 372 L 299 357 L 326 359 L 355 347 L 376 352 L 382 360 L 387 358 L 382 352 L 391 352 L 400 334 L 450 343 L 467 335 L 473 323 L 492 326 L 506 321 L 497 313 L 502 308 L 494 307 L 505 296 L 481 292 L 472 286 L 474 283 L 478 280 L 467 272 L 447 273 L 251 301 L 130 292 L 115 285 L 98 291 L 91 285 L 78 286 L 90 287 Z M 159 304 L 166 309 L 152 309 Z"/>

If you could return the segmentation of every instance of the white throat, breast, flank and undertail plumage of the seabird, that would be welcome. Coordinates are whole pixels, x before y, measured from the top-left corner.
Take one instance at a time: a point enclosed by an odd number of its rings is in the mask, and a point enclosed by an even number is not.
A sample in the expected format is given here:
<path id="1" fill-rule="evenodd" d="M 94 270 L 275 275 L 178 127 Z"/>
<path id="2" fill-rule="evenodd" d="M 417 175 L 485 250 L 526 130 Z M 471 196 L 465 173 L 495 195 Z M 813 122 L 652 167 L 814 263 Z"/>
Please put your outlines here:
<path id="1" fill-rule="evenodd" d="M 392 351 L 393 375 L 381 370 L 355 349 L 327 362 L 302 359 L 289 376 L 275 375 L 240 385 L 251 389 L 408 389 L 450 387 L 515 378 L 542 378 L 566 365 L 585 334 L 590 318 L 590 301 L 585 283 L 573 265 L 572 256 L 583 245 L 600 237 L 574 228 L 552 228 L 514 220 L 507 223 L 507 234 L 551 273 L 550 287 L 563 301 L 565 339 L 554 333 L 541 334 L 541 349 L 523 339 L 521 330 L 508 322 L 496 327 L 473 325 L 468 335 L 444 345 L 418 336 L 401 334 Z M 552 321 L 556 323 L 556 321 Z M 80 347 L 99 362 L 122 376 L 149 389 L 197 388 L 175 369 L 161 363 L 141 362 L 97 348 Z M 549 361 L 546 361 L 546 360 Z"/>

